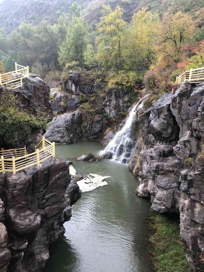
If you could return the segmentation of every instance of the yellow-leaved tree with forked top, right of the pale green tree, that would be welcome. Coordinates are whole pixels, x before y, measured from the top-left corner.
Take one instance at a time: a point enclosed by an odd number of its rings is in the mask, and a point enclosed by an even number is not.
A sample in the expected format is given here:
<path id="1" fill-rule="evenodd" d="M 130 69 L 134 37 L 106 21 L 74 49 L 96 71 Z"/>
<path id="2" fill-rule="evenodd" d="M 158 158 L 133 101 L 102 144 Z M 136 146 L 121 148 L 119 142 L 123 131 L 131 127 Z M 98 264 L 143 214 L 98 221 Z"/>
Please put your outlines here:
<path id="1" fill-rule="evenodd" d="M 122 19 L 123 12 L 119 6 L 113 11 L 109 5 L 103 5 L 102 14 L 101 22 L 96 26 L 99 33 L 96 38 L 96 60 L 106 70 L 121 70 L 121 41 L 126 27 L 126 22 Z"/>

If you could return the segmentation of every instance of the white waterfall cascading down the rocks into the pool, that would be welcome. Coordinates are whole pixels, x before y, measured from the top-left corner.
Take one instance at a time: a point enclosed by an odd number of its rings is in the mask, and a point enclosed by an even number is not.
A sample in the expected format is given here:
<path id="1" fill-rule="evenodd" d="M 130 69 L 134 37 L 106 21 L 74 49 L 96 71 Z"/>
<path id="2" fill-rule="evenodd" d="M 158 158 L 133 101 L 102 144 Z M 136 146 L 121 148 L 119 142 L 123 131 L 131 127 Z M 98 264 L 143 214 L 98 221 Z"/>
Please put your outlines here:
<path id="1" fill-rule="evenodd" d="M 143 100 L 140 100 L 129 112 L 129 116 L 115 137 L 107 145 L 103 153 L 112 152 L 114 155 L 112 160 L 127 164 L 132 156 L 134 141 L 131 137 L 131 129 L 134 116 L 143 107 Z"/>

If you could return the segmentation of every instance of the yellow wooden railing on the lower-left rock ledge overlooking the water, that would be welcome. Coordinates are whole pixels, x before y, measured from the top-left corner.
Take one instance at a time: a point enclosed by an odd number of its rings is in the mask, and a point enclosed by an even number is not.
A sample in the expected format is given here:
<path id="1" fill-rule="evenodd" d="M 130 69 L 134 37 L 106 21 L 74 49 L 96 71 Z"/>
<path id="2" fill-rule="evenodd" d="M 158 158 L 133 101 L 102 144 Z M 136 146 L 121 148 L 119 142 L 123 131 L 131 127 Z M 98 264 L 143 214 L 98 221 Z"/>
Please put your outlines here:
<path id="1" fill-rule="evenodd" d="M 37 165 L 48 158 L 55 157 L 55 144 L 42 138 L 35 147 L 35 152 L 27 154 L 26 147 L 0 151 L 0 173 L 13 172 Z"/>

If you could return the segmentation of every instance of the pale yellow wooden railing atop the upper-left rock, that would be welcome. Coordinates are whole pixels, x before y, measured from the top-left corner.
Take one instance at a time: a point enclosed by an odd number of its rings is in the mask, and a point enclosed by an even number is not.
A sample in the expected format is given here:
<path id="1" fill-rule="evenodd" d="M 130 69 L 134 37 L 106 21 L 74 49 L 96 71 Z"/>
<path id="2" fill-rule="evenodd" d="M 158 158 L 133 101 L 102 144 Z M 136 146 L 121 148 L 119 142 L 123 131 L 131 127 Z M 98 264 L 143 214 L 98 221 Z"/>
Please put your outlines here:
<path id="1" fill-rule="evenodd" d="M 25 67 L 15 62 L 15 71 L 1 74 L 0 84 L 6 85 L 10 89 L 15 89 L 22 86 L 22 79 L 29 77 L 29 66 Z"/>

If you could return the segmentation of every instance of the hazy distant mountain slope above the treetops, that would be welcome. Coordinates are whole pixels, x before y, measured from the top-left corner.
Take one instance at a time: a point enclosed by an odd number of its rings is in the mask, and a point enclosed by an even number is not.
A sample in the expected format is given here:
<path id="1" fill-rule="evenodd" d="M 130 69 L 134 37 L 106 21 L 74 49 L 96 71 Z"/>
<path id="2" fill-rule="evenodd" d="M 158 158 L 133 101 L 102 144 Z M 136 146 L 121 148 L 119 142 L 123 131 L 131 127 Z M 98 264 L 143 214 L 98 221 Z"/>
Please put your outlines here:
<path id="1" fill-rule="evenodd" d="M 70 15 L 70 6 L 74 0 L 2 0 L 0 1 L 0 23 L 6 33 L 16 29 L 22 22 L 38 24 L 47 20 L 51 24 L 57 22 L 61 13 Z M 99 22 L 103 4 L 115 8 L 119 4 L 123 9 L 123 18 L 130 21 L 132 15 L 147 6 L 152 12 L 175 14 L 182 11 L 193 16 L 201 26 L 204 24 L 203 0 L 78 0 L 82 6 L 82 15 L 93 26 Z"/>

